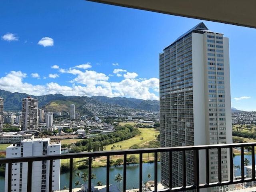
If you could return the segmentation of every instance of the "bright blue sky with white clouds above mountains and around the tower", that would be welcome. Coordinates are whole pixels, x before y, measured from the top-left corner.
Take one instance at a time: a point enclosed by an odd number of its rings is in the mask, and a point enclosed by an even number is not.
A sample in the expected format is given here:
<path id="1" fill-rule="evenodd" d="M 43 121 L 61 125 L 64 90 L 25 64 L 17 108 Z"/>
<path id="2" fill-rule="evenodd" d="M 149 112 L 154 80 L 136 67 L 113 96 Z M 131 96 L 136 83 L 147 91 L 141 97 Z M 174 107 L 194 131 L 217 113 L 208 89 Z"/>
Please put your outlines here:
<path id="1" fill-rule="evenodd" d="M 84 0 L 0 1 L 0 89 L 159 100 L 159 53 L 199 22 Z M 256 30 L 203 22 L 229 37 L 232 107 L 256 110 Z"/>

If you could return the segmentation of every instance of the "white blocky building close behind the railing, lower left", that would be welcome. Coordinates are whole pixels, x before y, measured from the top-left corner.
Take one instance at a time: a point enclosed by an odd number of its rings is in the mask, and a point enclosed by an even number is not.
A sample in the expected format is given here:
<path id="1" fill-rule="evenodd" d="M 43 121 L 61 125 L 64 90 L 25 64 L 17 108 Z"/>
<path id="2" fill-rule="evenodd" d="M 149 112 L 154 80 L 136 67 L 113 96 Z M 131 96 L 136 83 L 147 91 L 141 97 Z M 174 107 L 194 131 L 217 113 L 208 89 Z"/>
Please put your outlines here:
<path id="1" fill-rule="evenodd" d="M 6 148 L 6 157 L 27 157 L 40 155 L 60 154 L 61 143 L 50 142 L 50 138 L 25 139 L 20 145 L 12 144 Z M 32 171 L 32 191 L 48 192 L 49 188 L 49 161 L 33 162 Z M 60 160 L 53 161 L 52 168 L 52 190 L 60 190 Z M 27 191 L 28 163 L 12 164 L 12 185 L 11 191 Z M 8 175 L 8 164 L 6 164 L 6 176 Z M 7 178 L 7 177 L 6 177 Z M 5 189 L 7 189 L 8 180 L 5 180 Z"/>

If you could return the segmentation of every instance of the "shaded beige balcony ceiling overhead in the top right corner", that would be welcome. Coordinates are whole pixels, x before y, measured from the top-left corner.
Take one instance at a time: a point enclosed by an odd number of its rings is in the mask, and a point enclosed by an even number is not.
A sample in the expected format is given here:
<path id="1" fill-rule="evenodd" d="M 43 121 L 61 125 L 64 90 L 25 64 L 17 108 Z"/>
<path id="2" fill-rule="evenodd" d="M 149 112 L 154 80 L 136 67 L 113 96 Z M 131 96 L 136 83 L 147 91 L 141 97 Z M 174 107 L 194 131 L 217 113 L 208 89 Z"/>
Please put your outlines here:
<path id="1" fill-rule="evenodd" d="M 89 0 L 256 28 L 256 0 Z"/>

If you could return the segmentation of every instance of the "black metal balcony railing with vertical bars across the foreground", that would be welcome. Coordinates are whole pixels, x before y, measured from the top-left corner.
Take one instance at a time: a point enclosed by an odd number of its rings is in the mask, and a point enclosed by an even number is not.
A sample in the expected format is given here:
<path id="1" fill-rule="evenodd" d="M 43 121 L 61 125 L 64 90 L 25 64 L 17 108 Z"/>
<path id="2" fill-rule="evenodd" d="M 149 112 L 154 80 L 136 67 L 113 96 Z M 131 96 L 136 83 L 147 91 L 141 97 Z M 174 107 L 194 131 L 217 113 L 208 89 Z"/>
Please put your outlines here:
<path id="1" fill-rule="evenodd" d="M 252 156 L 252 177 L 244 178 L 244 147 L 252 147 L 251 156 Z M 168 147 L 168 148 L 146 148 L 146 149 L 133 149 L 133 150 L 116 150 L 116 151 L 104 151 L 104 152 L 85 152 L 85 153 L 70 153 L 70 154 L 59 154 L 59 155 L 47 155 L 47 156 L 32 156 L 32 157 L 19 157 L 19 158 L 0 158 L 0 164 L 8 164 L 8 189 L 5 191 L 11 192 L 11 181 L 12 181 L 12 164 L 18 162 L 27 162 L 28 163 L 28 178 L 27 178 L 27 192 L 32 191 L 32 168 L 33 162 L 48 160 L 50 162 L 50 174 L 49 174 L 49 188 L 48 190 L 52 191 L 52 165 L 53 160 L 58 159 L 70 159 L 70 181 L 69 181 L 69 191 L 72 192 L 72 174 L 73 174 L 73 159 L 75 158 L 88 158 L 89 160 L 89 168 L 88 168 L 88 189 L 91 188 L 92 182 L 92 159 L 95 157 L 106 156 L 106 192 L 109 192 L 109 184 L 110 184 L 110 156 L 114 155 L 122 155 L 124 160 L 123 165 L 123 188 L 122 191 L 126 191 L 126 180 L 129 178 L 129 175 L 126 174 L 126 166 L 127 166 L 127 156 L 130 154 L 139 154 L 139 192 L 142 192 L 142 155 L 148 153 L 154 153 L 154 191 L 158 191 L 158 153 L 166 152 L 170 157 L 169 163 L 169 186 L 172 186 L 172 154 L 174 152 L 182 152 L 182 186 L 179 187 L 170 187 L 165 189 L 166 191 L 185 191 L 185 190 L 194 190 L 198 191 L 202 188 L 210 188 L 210 187 L 218 187 L 218 186 L 227 186 L 234 185 L 245 182 L 253 182 L 256 181 L 255 178 L 255 146 L 256 142 L 251 143 L 240 143 L 240 144 L 217 144 L 217 145 L 202 145 L 202 146 L 182 146 L 182 147 Z M 240 179 L 234 179 L 234 164 L 233 164 L 233 148 L 240 148 L 241 151 L 241 175 Z M 229 162 L 229 178 L 228 181 L 222 181 L 222 162 L 221 151 L 225 149 L 227 151 L 227 156 L 230 158 Z M 228 149 L 228 150 L 227 150 Z M 211 183 L 210 182 L 210 150 L 217 150 L 218 154 L 218 181 Z M 193 151 L 193 161 L 194 161 L 194 183 L 192 185 L 187 185 L 186 183 L 186 152 Z M 205 165 L 202 166 L 199 164 L 199 153 L 201 151 L 205 152 Z M 200 183 L 200 172 L 199 170 L 203 169 L 206 172 L 206 183 Z M 131 176 L 132 177 L 132 176 Z M 162 190 L 161 190 L 162 191 Z"/>

